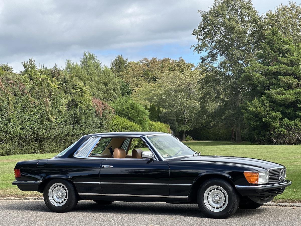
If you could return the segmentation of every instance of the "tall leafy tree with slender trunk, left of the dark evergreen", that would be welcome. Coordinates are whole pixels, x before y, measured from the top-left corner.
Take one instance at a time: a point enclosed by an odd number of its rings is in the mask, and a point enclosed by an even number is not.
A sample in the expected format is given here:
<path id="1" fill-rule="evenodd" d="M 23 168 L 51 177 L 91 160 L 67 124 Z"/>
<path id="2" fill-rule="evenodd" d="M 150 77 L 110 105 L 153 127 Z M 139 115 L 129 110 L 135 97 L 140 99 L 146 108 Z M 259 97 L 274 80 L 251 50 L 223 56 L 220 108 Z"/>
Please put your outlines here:
<path id="1" fill-rule="evenodd" d="M 224 118 L 236 127 L 236 141 L 241 142 L 240 104 L 245 86 L 240 78 L 256 51 L 261 20 L 251 0 L 216 0 L 208 11 L 199 13 L 202 21 L 192 33 L 198 43 L 192 47 L 203 54 L 201 64 L 210 65 L 202 82 L 212 89 L 218 87 L 213 99 L 219 103 L 216 106 L 222 106 Z"/>

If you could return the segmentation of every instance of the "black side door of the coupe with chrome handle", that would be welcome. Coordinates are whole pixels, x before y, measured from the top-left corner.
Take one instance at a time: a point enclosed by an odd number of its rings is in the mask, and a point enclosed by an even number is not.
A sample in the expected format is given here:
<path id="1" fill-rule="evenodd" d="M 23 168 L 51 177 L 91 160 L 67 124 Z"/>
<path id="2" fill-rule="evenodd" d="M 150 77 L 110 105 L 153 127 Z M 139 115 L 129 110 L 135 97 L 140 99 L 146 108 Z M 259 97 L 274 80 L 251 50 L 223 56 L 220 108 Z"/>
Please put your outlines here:
<path id="1" fill-rule="evenodd" d="M 106 159 L 100 183 L 105 194 L 169 195 L 169 165 L 157 159 Z"/>

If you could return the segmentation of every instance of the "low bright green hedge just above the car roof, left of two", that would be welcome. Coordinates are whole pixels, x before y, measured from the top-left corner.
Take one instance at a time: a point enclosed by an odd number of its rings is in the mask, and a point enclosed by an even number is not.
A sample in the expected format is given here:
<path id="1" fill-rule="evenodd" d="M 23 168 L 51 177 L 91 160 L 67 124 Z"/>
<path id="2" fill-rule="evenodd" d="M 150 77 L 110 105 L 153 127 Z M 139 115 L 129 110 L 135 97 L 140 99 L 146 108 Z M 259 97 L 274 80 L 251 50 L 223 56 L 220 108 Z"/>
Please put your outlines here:
<path id="1" fill-rule="evenodd" d="M 138 132 L 141 131 L 141 126 L 126 118 L 115 115 L 112 120 L 111 130 L 113 132 Z"/>

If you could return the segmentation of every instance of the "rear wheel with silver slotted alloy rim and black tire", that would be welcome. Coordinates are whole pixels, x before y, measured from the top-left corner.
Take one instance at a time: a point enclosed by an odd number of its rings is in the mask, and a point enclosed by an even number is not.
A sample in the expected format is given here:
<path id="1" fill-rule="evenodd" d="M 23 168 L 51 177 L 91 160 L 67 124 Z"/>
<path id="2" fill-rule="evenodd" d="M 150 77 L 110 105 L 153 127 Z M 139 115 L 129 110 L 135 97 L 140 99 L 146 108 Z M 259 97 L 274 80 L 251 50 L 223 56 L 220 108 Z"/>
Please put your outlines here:
<path id="1" fill-rule="evenodd" d="M 63 179 L 49 181 L 44 188 L 43 195 L 46 206 L 53 212 L 68 212 L 78 202 L 73 185 Z"/>

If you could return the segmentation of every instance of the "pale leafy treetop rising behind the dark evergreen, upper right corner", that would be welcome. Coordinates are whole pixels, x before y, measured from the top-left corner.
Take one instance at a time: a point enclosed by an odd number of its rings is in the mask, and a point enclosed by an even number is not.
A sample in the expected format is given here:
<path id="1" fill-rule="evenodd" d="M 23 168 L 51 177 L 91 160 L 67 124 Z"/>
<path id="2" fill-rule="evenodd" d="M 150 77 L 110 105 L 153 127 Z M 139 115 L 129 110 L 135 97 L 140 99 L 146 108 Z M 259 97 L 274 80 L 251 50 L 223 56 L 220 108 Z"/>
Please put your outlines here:
<path id="1" fill-rule="evenodd" d="M 264 16 L 265 30 L 277 28 L 285 37 L 293 42 L 301 42 L 301 5 L 289 2 L 288 5 L 279 5 L 274 11 L 269 10 Z"/>

